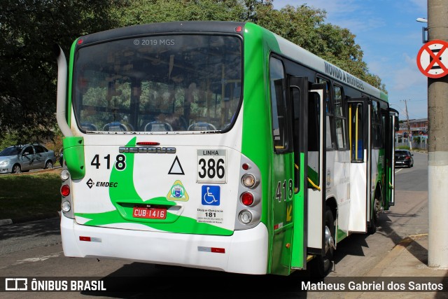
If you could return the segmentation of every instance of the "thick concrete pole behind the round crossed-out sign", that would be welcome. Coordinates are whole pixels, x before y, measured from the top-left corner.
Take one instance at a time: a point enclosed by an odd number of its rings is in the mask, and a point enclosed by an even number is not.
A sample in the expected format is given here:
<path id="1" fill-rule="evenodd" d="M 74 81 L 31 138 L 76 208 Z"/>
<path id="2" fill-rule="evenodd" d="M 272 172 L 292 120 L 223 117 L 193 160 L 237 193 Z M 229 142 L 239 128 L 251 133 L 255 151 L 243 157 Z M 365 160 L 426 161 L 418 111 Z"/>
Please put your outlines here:
<path id="1" fill-rule="evenodd" d="M 448 1 L 428 0 L 428 41 L 448 41 L 447 25 Z M 428 78 L 428 266 L 440 268 L 448 268 L 447 116 L 448 76 Z"/>

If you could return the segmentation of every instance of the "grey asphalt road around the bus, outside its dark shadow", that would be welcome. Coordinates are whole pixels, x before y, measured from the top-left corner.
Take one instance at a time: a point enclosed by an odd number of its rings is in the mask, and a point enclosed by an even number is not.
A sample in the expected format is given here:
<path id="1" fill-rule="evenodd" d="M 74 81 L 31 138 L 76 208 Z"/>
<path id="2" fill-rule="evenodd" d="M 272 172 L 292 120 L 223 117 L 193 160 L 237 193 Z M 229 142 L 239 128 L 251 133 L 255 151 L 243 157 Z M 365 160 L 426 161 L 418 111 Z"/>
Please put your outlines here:
<path id="1" fill-rule="evenodd" d="M 377 232 L 351 235 L 340 242 L 335 267 L 328 277 L 363 276 L 401 239 L 428 232 L 427 179 L 427 155 L 414 153 L 414 167 L 396 171 L 395 206 L 381 214 Z M 114 281 L 125 284 L 123 287 L 129 289 L 129 293 L 10 292 L 1 293 L 2 298 L 29 298 L 31 295 L 33 298 L 179 298 L 186 295 L 195 298 L 265 298 L 265 295 L 328 298 L 328 293 L 298 291 L 300 275 L 254 277 L 123 260 L 66 258 L 59 235 L 59 218 L 0 226 L 0 273 L 0 277 L 132 277 Z M 141 292 L 142 286 L 147 288 L 149 296 Z M 151 290 L 157 292 L 151 293 Z"/>

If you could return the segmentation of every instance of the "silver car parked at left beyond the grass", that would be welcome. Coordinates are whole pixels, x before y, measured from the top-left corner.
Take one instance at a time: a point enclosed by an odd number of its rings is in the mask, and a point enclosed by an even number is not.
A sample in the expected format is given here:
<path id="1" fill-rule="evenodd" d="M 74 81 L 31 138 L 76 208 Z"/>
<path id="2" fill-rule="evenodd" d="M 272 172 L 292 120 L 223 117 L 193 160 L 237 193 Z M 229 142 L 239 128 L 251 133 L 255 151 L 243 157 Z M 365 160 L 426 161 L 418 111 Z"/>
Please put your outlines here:
<path id="1" fill-rule="evenodd" d="M 0 173 L 20 174 L 31 169 L 53 168 L 56 156 L 41 144 L 9 146 L 0 152 Z"/>

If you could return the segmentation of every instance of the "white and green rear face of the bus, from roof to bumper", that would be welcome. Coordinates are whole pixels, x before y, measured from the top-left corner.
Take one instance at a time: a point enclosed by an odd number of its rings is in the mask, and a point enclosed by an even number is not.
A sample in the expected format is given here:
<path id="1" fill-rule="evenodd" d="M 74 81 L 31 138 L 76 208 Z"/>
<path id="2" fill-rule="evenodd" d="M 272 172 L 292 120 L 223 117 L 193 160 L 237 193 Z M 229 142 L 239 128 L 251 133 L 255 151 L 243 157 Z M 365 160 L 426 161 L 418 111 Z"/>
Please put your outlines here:
<path id="1" fill-rule="evenodd" d="M 140 25 L 73 43 L 66 102 L 58 90 L 66 256 L 267 272 L 260 169 L 241 153 L 243 26 Z"/>

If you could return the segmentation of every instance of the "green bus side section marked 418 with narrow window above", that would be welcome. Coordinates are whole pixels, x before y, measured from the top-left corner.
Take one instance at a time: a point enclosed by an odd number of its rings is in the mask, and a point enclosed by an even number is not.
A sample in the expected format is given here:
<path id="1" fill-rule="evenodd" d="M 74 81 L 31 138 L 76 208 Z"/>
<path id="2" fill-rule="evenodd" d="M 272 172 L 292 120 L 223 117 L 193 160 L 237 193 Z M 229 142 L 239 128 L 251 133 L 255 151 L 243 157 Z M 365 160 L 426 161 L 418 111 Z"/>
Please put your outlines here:
<path id="1" fill-rule="evenodd" d="M 294 157 L 292 115 L 283 63 L 276 57 L 269 60 L 272 113 L 271 227 L 272 244 L 270 273 L 290 273 L 293 239 Z"/>

